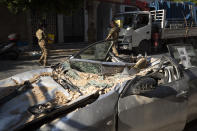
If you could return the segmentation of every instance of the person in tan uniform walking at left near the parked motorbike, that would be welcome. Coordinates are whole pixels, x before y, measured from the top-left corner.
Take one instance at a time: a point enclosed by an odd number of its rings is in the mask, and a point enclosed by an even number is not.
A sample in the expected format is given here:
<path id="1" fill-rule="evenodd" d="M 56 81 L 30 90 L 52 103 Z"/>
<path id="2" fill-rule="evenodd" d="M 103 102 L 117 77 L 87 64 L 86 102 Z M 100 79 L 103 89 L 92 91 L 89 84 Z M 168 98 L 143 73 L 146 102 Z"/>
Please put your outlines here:
<path id="1" fill-rule="evenodd" d="M 39 29 L 36 31 L 36 37 L 38 39 L 38 44 L 42 50 L 42 56 L 40 57 L 38 62 L 41 63 L 43 60 L 43 66 L 46 66 L 48 50 L 47 50 L 46 35 L 44 33 L 44 25 L 43 24 L 40 24 Z"/>

